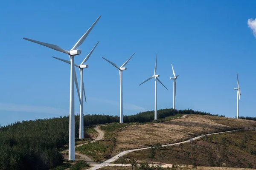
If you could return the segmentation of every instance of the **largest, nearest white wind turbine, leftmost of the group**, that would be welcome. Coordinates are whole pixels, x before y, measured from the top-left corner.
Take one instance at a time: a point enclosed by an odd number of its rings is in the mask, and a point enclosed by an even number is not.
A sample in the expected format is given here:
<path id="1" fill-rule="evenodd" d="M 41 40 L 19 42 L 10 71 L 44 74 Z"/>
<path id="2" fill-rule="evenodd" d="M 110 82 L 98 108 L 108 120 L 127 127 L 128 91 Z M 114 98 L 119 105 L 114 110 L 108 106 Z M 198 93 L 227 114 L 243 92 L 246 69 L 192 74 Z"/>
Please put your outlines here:
<path id="1" fill-rule="evenodd" d="M 101 15 L 97 18 L 97 20 L 93 23 L 93 25 L 84 33 L 84 35 L 76 42 L 76 44 L 71 48 L 70 51 L 64 50 L 58 45 L 48 44 L 45 42 L 40 42 L 36 40 L 31 40 L 29 38 L 23 38 L 24 40 L 28 40 L 31 42 L 35 42 L 40 45 L 44 45 L 48 48 L 52 48 L 56 51 L 60 51 L 66 53 L 70 57 L 70 124 L 69 124 L 69 146 L 68 146 L 68 159 L 75 160 L 75 108 L 74 108 L 74 76 L 75 76 L 75 67 L 74 67 L 74 56 L 81 54 L 81 50 L 77 50 L 85 40 L 87 35 L 93 29 L 95 24 L 98 22 Z"/>

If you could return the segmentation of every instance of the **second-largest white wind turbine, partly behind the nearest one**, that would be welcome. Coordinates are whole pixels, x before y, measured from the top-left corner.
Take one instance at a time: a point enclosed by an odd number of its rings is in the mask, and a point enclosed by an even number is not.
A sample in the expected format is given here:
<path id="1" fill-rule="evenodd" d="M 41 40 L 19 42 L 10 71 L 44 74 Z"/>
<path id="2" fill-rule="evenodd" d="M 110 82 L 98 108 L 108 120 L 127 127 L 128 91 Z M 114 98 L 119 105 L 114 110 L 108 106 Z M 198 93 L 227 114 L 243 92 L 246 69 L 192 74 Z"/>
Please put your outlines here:
<path id="1" fill-rule="evenodd" d="M 94 49 L 96 48 L 96 46 L 98 45 L 99 41 L 97 42 L 97 44 L 93 47 L 93 49 L 90 51 L 90 53 L 84 58 L 84 61 L 81 62 L 80 65 L 74 64 L 76 67 L 79 68 L 80 71 L 80 95 L 79 95 L 79 100 L 80 100 L 80 122 L 79 122 L 79 139 L 84 139 L 84 100 L 86 102 L 86 97 L 85 97 L 85 91 L 84 91 L 84 68 L 88 68 L 89 65 L 84 65 L 84 63 L 89 59 L 90 55 L 93 53 Z M 67 62 L 68 64 L 70 64 L 70 61 L 65 60 L 65 59 L 60 59 L 58 57 L 53 57 L 55 59 L 61 60 L 63 62 Z M 76 80 L 76 71 L 74 71 L 75 73 L 75 80 Z M 77 83 L 77 82 L 76 82 Z M 78 85 L 77 85 L 77 89 L 78 89 Z M 78 90 L 79 93 L 79 90 Z M 84 95 L 84 96 L 83 96 Z"/>

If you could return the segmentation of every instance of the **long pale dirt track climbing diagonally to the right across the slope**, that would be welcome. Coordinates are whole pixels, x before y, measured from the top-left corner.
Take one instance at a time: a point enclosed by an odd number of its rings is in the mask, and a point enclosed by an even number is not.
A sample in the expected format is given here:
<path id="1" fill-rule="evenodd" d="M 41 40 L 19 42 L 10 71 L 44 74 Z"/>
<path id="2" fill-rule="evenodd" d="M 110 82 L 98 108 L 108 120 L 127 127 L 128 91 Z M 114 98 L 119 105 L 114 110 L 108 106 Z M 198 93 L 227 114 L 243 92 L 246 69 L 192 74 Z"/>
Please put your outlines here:
<path id="1" fill-rule="evenodd" d="M 234 132 L 234 131 L 237 131 L 237 130 L 230 130 L 230 131 L 224 131 L 224 132 L 218 132 L 218 133 L 210 133 L 210 134 L 207 134 L 208 136 L 209 135 L 215 135 L 215 134 L 219 134 L 219 133 L 227 133 L 227 132 Z M 190 142 L 190 140 L 196 140 L 196 139 L 199 139 L 201 138 L 202 136 L 197 136 L 195 138 L 192 138 L 192 139 L 189 139 L 189 140 L 186 140 L 186 141 L 183 141 L 183 142 L 178 142 L 178 143 L 174 143 L 174 144 L 165 144 L 165 145 L 162 145 L 162 147 L 166 147 L 166 146 L 172 146 L 172 145 L 177 145 L 177 144 L 182 144 L 182 143 L 187 143 L 187 142 Z M 105 167 L 105 166 L 108 166 L 110 165 L 111 162 L 114 162 L 116 161 L 117 159 L 119 159 L 119 157 L 122 157 L 124 156 L 125 154 L 127 153 L 130 153 L 130 152 L 133 152 L 133 151 L 137 151 L 137 150 L 145 150 L 145 149 L 150 149 L 150 147 L 145 147 L 145 148 L 140 148 L 140 149 L 132 149 L 132 150 L 126 150 L 126 151 L 123 151 L 119 154 L 117 154 L 116 156 L 114 156 L 113 158 L 111 159 L 108 159 L 104 162 L 102 162 L 101 164 L 94 164 L 93 167 L 87 169 L 87 170 L 97 170 L 101 167 Z M 118 165 L 118 164 L 116 164 Z"/>

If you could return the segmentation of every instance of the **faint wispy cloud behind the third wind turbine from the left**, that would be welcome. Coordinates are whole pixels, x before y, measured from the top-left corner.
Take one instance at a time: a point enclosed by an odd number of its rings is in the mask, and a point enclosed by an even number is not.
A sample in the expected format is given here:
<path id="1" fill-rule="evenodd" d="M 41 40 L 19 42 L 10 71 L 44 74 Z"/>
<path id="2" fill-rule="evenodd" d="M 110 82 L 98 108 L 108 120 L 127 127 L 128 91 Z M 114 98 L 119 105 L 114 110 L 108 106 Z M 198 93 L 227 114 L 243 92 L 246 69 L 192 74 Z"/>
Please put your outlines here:
<path id="1" fill-rule="evenodd" d="M 90 100 L 94 100 L 97 102 L 103 102 L 103 103 L 108 103 L 110 105 L 113 106 L 119 106 L 120 103 L 117 101 L 113 101 L 113 100 L 107 100 L 107 99 L 99 99 L 99 98 L 90 98 Z M 146 111 L 146 108 L 131 104 L 131 103 L 123 103 L 123 108 L 125 110 L 130 110 L 130 111 Z"/>

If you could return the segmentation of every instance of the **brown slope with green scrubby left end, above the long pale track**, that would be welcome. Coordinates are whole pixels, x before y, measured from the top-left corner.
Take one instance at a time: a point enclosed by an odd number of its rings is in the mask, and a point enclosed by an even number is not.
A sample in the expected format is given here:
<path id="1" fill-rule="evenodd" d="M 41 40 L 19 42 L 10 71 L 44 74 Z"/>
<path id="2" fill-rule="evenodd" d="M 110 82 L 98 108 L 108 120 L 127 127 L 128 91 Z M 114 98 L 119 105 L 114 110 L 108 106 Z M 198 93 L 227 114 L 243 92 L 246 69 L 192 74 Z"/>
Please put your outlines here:
<path id="1" fill-rule="evenodd" d="M 102 126 L 104 140 L 76 148 L 96 161 L 104 161 L 124 150 L 150 147 L 154 144 L 170 144 L 185 139 L 225 130 L 255 127 L 256 121 L 217 116 L 187 115 L 169 116 L 161 122 L 110 123 Z M 171 121 L 171 119 L 173 119 Z M 161 122 L 161 123 L 160 123 Z M 143 133 L 142 133 L 143 132 Z"/>

